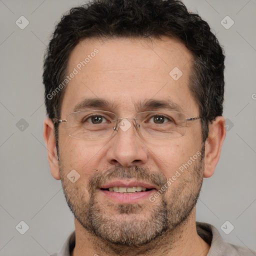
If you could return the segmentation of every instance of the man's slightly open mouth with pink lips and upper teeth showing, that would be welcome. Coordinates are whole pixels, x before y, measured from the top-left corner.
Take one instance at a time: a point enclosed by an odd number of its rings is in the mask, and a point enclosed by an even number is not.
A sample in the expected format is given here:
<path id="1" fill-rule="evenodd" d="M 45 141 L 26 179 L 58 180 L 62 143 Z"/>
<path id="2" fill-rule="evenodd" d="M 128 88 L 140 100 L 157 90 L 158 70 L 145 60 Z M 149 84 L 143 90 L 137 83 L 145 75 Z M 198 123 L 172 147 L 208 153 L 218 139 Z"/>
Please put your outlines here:
<path id="1" fill-rule="evenodd" d="M 103 194 L 111 200 L 119 203 L 135 203 L 142 199 L 148 199 L 150 194 L 157 191 L 156 187 L 139 181 L 124 182 L 112 181 L 104 184 L 99 189 Z"/>

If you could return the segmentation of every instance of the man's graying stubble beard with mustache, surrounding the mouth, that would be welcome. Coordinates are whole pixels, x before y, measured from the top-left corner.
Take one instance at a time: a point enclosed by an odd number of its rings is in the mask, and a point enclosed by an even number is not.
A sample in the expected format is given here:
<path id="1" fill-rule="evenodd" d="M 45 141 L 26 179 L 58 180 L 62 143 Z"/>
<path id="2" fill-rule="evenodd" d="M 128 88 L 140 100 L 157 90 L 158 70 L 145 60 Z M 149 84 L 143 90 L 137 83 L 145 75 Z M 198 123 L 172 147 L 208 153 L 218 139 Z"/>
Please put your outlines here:
<path id="1" fill-rule="evenodd" d="M 203 149 L 197 162 L 184 170 L 177 182 L 171 184 L 154 203 L 148 200 L 146 205 L 121 204 L 109 200 L 99 202 L 95 188 L 112 178 L 135 178 L 161 187 L 167 182 L 166 177 L 161 174 L 138 166 L 117 166 L 101 173 L 97 172 L 85 188 L 78 182 L 71 183 L 62 175 L 64 172 L 60 168 L 67 204 L 84 229 L 92 236 L 112 245 L 137 248 L 156 238 L 164 237 L 167 233 L 174 234 L 175 229 L 185 224 L 199 196 L 203 179 Z"/>

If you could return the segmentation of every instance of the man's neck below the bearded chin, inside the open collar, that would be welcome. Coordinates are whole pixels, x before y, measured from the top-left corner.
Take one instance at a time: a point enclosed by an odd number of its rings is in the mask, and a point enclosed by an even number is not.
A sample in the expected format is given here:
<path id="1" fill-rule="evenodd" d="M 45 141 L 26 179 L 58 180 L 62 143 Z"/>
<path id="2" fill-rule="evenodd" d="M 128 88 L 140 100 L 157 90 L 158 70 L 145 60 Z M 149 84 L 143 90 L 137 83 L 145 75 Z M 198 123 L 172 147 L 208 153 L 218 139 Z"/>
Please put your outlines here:
<path id="1" fill-rule="evenodd" d="M 188 219 L 174 230 L 167 230 L 148 244 L 142 246 L 125 246 L 110 244 L 85 230 L 75 219 L 75 247 L 71 256 L 82 255 L 166 255 L 166 256 L 205 256 L 209 245 L 197 234 L 195 226 L 195 208 Z"/>

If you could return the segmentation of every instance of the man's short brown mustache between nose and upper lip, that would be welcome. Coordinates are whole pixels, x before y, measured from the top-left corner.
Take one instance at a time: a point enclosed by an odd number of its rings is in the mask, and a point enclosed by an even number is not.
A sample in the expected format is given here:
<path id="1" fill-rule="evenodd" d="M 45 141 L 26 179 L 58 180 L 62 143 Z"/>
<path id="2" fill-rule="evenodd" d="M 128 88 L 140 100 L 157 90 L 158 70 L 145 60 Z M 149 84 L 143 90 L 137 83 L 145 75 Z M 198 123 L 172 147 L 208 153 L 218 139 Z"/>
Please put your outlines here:
<path id="1" fill-rule="evenodd" d="M 151 171 L 148 168 L 142 168 L 139 166 L 115 166 L 114 168 L 110 168 L 106 171 L 98 172 L 97 170 L 97 173 L 93 175 L 93 177 L 91 177 L 88 181 L 88 191 L 92 192 L 97 187 L 103 186 L 103 184 L 105 184 L 107 181 L 110 181 L 114 178 L 132 178 L 160 187 L 162 187 L 167 182 L 167 178 L 164 177 L 161 173 Z"/>

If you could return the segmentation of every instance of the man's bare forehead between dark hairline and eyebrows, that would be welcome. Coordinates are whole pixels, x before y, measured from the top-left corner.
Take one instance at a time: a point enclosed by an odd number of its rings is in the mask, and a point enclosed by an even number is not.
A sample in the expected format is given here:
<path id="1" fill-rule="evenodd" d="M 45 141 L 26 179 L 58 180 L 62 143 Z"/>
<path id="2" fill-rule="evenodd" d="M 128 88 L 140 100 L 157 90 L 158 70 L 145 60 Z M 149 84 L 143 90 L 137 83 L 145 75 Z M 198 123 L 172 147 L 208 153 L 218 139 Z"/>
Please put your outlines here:
<path id="1" fill-rule="evenodd" d="M 188 89 L 191 60 L 189 50 L 167 36 L 84 39 L 68 59 L 66 73 L 75 75 L 69 78 L 61 113 L 70 113 L 86 98 L 103 98 L 123 111 L 133 111 L 146 99 L 172 101 L 184 112 L 196 109 Z"/>

